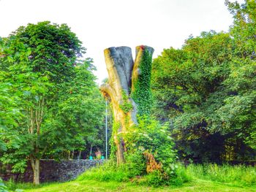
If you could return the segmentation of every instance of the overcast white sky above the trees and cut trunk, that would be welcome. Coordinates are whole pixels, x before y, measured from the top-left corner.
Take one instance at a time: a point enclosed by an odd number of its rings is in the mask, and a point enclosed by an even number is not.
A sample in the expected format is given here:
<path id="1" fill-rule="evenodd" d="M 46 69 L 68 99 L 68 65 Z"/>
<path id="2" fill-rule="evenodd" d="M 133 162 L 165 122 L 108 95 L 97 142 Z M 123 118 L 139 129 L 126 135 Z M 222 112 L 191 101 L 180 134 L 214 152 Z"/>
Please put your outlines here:
<path id="1" fill-rule="evenodd" d="M 240 0 L 239 2 L 243 2 Z M 108 47 L 181 47 L 201 31 L 227 31 L 232 16 L 225 0 L 0 0 L 0 37 L 19 26 L 50 20 L 67 23 L 94 59 L 97 82 L 108 73 L 103 50 Z"/>

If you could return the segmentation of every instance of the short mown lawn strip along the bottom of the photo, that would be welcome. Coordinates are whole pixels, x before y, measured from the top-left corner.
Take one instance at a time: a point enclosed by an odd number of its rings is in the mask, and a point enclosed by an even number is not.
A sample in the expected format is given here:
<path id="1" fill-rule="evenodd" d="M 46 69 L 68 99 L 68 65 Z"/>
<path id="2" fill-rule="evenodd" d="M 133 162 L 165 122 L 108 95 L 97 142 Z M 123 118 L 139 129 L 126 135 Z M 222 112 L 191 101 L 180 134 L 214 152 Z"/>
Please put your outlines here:
<path id="1" fill-rule="evenodd" d="M 43 185 L 41 188 L 31 188 L 27 192 L 76 192 L 76 191 L 256 191 L 254 187 L 244 187 L 230 183 L 217 183 L 208 180 L 193 180 L 179 187 L 150 188 L 132 183 L 99 182 L 96 180 L 71 181 Z"/>

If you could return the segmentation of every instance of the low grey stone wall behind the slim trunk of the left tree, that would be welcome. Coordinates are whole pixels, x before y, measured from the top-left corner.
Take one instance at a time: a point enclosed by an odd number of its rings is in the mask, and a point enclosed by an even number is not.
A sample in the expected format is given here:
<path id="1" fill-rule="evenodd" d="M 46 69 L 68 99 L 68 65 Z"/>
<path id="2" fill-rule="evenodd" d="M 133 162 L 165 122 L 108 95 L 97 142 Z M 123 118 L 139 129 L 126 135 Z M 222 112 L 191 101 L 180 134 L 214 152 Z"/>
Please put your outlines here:
<path id="1" fill-rule="evenodd" d="M 99 164 L 103 164 L 103 162 L 104 160 L 68 160 L 60 162 L 54 160 L 41 160 L 40 182 L 64 182 L 73 180 L 86 169 L 99 166 Z M 3 180 L 10 180 L 12 178 L 19 182 L 32 182 L 33 171 L 30 164 L 23 174 L 14 174 L 10 171 L 10 167 L 0 166 L 0 177 Z"/>

